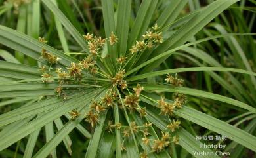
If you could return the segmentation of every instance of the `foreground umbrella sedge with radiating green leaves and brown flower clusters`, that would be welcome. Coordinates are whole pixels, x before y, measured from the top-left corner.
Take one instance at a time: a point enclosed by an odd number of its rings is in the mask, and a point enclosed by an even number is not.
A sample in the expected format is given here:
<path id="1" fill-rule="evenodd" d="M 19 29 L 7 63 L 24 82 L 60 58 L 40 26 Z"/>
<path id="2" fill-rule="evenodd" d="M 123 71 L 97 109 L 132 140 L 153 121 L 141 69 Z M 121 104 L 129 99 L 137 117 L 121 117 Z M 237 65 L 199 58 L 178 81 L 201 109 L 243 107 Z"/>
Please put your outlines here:
<path id="1" fill-rule="evenodd" d="M 1 104 L 25 102 L 0 115 L 3 155 L 10 153 L 16 142 L 17 155 L 22 140 L 27 140 L 22 157 L 58 157 L 56 148 L 61 142 L 72 155 L 75 151 L 69 134 L 75 128 L 83 139 L 89 140 L 85 148 L 87 158 L 182 157 L 189 153 L 202 157 L 200 153 L 214 153 L 200 147 L 200 141 L 188 132 L 186 121 L 256 151 L 255 136 L 192 108 L 189 96 L 224 102 L 251 113 L 256 112 L 255 108 L 240 100 L 187 88 L 186 80 L 177 75 L 186 71 L 224 71 L 242 73 L 255 80 L 256 73 L 220 66 L 158 70 L 177 50 L 223 37 L 255 35 L 225 33 L 190 41 L 238 0 L 217 0 L 182 18 L 177 17 L 188 1 L 171 1 L 154 22 L 151 19 L 161 1 L 144 0 L 131 28 L 133 1 L 119 0 L 115 17 L 115 2 L 102 0 L 105 33 L 102 36 L 80 33 L 58 9 L 56 1 L 41 2 L 31 3 L 53 12 L 64 52 L 51 47 L 45 37 L 38 37 L 38 30 L 26 35 L 0 26 L 1 45 L 16 50 L 20 60 L 23 57 L 18 54 L 24 54 L 34 64 L 28 66 L 16 60 L 16 63 L 0 62 L 0 76 L 5 81 L 0 85 L 0 98 L 7 99 Z M 17 12 L 20 12 L 19 5 L 15 8 Z M 163 36 L 163 32 L 175 25 L 181 26 L 168 37 Z M 64 29 L 72 35 L 79 51 L 68 51 L 71 47 L 67 45 Z M 152 77 L 161 77 L 162 81 L 154 81 Z M 35 149 L 41 132 L 45 134 L 45 144 Z M 184 149 L 184 153 L 178 155 L 179 149 Z"/>

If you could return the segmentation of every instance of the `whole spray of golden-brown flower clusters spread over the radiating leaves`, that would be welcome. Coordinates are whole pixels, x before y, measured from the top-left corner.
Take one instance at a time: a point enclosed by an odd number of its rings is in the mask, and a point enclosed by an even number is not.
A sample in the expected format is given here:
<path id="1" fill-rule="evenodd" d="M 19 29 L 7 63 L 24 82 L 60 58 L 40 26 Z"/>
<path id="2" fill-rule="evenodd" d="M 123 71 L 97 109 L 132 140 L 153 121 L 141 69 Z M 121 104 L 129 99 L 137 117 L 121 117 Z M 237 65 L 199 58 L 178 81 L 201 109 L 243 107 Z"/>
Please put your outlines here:
<path id="1" fill-rule="evenodd" d="M 139 52 L 143 52 L 146 48 L 152 48 L 163 42 L 162 33 L 159 31 L 160 28 L 156 24 L 150 30 L 143 35 L 142 41 L 136 41 L 135 45 L 129 49 L 131 55 Z M 179 129 L 181 121 L 177 119 L 170 119 L 174 116 L 176 108 L 182 108 L 182 105 L 186 104 L 186 96 L 184 94 L 174 94 L 174 102 L 167 102 L 165 98 L 160 100 L 154 100 L 158 104 L 160 109 L 160 115 L 167 117 L 169 119 L 169 124 L 166 130 L 161 131 L 161 138 L 155 138 L 152 136 L 153 123 L 148 121 L 148 113 L 146 106 L 140 105 L 140 95 L 144 90 L 144 87 L 137 84 L 133 87 L 133 91 L 130 92 L 128 83 L 125 81 L 125 69 L 121 69 L 121 64 L 124 64 L 128 56 L 119 56 L 116 59 L 117 64 L 120 68 L 116 71 L 116 74 L 111 76 L 100 68 L 98 68 L 97 61 L 102 60 L 100 52 L 104 45 L 108 42 L 110 46 L 115 45 L 118 42 L 117 36 L 112 32 L 110 37 L 103 39 L 102 37 L 96 37 L 93 34 L 87 33 L 83 35 L 85 41 L 87 41 L 88 49 L 85 50 L 85 58 L 77 63 L 70 63 L 67 68 L 58 67 L 58 62 L 60 58 L 48 52 L 45 47 L 41 50 L 41 58 L 45 61 L 46 65 L 41 67 L 42 81 L 45 83 L 51 83 L 53 81 L 58 81 L 58 87 L 56 87 L 55 92 L 57 96 L 68 98 L 67 93 L 64 89 L 66 83 L 69 84 L 85 84 L 85 80 L 88 77 L 93 78 L 95 83 L 97 83 L 97 78 L 108 79 L 111 84 L 110 89 L 106 92 L 103 98 L 91 100 L 89 105 L 89 111 L 85 115 L 81 115 L 79 111 L 70 111 L 70 119 L 74 120 L 77 117 L 84 117 L 85 121 L 91 125 L 91 127 L 96 127 L 99 123 L 99 118 L 102 113 L 107 109 L 114 108 L 118 106 L 120 111 L 124 112 L 124 115 L 137 113 L 142 118 L 142 120 L 147 120 L 143 125 L 137 125 L 136 121 L 131 121 L 125 125 L 125 123 L 114 123 L 114 119 L 108 119 L 106 130 L 112 133 L 114 130 L 120 130 L 122 134 L 121 149 L 125 150 L 125 142 L 131 136 L 142 136 L 141 141 L 144 146 L 148 146 L 151 151 L 150 153 L 160 153 L 165 148 L 169 147 L 171 142 L 178 144 L 179 136 L 177 136 L 175 131 Z M 39 37 L 41 43 L 47 43 L 45 39 Z M 182 86 L 184 81 L 179 79 L 177 75 L 175 77 L 167 75 L 165 79 L 167 83 L 174 86 Z M 121 93 L 122 92 L 122 93 Z M 129 111 L 127 113 L 126 111 Z M 148 157 L 150 154 L 144 151 L 140 154 L 140 157 Z"/>

